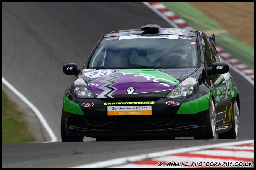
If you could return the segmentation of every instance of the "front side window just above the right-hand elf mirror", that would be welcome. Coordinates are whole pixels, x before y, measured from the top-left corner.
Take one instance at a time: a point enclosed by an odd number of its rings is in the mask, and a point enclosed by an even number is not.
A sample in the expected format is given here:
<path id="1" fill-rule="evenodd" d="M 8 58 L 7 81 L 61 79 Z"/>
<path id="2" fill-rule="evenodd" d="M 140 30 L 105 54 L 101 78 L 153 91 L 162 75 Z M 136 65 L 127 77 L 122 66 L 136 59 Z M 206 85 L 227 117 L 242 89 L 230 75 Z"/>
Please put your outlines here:
<path id="1" fill-rule="evenodd" d="M 202 47 L 204 51 L 204 59 L 207 63 L 207 66 L 212 67 L 212 64 L 213 62 L 215 62 L 215 59 L 205 36 L 202 36 Z"/>

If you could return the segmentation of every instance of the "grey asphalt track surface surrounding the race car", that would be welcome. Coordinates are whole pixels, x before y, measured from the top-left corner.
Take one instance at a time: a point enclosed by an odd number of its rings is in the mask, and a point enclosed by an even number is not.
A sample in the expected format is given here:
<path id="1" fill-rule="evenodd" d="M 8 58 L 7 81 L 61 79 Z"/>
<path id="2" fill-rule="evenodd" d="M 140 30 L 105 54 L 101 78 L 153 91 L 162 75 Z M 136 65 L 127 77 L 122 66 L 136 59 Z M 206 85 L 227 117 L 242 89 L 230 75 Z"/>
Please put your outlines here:
<path id="1" fill-rule="evenodd" d="M 113 8 L 114 7 L 114 8 Z M 172 27 L 141 2 L 2 2 L 2 76 L 42 113 L 57 137 L 40 122 L 39 142 L 2 144 L 2 168 L 66 168 L 108 159 L 190 146 L 254 139 L 254 86 L 230 70 L 240 91 L 238 140 L 145 140 L 61 143 L 60 117 L 65 89 L 75 76 L 62 67 L 81 67 L 104 34 L 156 23 Z M 2 84 L 27 112 L 32 111 Z M 31 118 L 32 117 L 32 118 Z M 31 120 L 36 116 L 30 116 Z"/>

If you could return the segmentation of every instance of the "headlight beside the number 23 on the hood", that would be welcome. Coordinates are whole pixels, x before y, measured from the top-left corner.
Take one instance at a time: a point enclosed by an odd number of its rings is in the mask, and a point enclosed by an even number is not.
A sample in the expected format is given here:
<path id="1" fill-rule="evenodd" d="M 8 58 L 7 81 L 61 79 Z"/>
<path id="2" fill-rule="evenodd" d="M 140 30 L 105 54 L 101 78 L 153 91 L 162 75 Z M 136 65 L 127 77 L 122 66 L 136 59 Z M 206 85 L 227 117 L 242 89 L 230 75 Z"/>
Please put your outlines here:
<path id="1" fill-rule="evenodd" d="M 94 98 L 92 91 L 82 78 L 78 78 L 74 81 L 71 93 L 74 94 L 76 98 Z"/>

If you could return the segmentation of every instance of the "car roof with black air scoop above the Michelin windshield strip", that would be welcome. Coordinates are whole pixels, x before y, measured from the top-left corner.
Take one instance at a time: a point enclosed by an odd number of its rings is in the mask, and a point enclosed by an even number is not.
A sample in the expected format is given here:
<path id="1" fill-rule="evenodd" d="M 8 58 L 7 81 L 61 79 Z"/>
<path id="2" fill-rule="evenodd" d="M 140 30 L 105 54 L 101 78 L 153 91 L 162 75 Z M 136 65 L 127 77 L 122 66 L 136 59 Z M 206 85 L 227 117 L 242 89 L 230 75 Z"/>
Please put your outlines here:
<path id="1" fill-rule="evenodd" d="M 181 29 L 181 28 L 160 28 L 157 24 L 143 25 L 141 29 L 112 31 L 104 37 L 128 36 L 128 35 L 180 35 L 196 37 L 198 30 Z"/>

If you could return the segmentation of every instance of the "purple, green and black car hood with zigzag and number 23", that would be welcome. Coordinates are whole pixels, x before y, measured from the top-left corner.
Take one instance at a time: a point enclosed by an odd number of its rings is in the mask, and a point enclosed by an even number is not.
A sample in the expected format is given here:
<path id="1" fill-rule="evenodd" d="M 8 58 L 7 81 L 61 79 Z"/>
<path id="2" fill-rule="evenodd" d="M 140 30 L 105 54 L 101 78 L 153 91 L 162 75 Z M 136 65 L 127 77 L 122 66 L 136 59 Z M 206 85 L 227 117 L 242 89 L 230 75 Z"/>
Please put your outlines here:
<path id="1" fill-rule="evenodd" d="M 166 95 L 166 91 L 169 92 L 196 69 L 84 69 L 82 78 L 97 98 L 116 98 L 121 94 L 142 96 L 150 92 L 160 97 L 157 92 Z"/>

